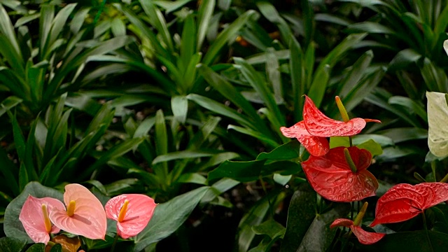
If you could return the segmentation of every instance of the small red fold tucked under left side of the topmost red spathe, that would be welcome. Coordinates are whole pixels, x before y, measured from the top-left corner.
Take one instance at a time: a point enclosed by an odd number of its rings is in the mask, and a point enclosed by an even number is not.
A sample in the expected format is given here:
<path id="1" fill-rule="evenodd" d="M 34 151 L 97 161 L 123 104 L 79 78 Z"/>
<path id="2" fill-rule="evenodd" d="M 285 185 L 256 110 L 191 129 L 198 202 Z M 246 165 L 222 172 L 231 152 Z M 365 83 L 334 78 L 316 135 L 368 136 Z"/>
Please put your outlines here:
<path id="1" fill-rule="evenodd" d="M 281 127 L 280 131 L 285 137 L 295 137 L 311 155 L 321 156 L 330 151 L 328 140 L 325 137 L 311 136 L 305 129 L 303 121 L 288 128 Z"/>

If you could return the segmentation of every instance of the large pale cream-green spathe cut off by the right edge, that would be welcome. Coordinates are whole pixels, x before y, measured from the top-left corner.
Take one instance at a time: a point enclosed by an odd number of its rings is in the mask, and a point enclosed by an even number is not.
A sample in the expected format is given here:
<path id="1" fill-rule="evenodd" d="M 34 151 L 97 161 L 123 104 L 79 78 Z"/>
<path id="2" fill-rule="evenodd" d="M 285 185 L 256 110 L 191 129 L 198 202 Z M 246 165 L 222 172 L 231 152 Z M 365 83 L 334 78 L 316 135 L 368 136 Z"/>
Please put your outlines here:
<path id="1" fill-rule="evenodd" d="M 448 106 L 446 95 L 426 92 L 428 98 L 428 147 L 437 157 L 448 155 Z"/>

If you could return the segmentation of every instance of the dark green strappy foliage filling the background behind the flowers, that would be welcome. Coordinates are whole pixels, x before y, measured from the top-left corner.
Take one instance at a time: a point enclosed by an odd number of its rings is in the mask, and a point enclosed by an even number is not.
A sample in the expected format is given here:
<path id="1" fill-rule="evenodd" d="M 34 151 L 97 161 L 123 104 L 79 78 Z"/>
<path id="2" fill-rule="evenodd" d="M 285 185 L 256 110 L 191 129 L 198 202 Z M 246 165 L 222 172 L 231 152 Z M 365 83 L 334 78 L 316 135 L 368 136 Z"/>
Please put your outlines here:
<path id="1" fill-rule="evenodd" d="M 440 181 L 446 161 L 428 153 L 425 92 L 448 92 L 447 6 L 0 1 L 0 213 L 29 181 L 169 204 L 195 195 L 184 218 L 162 227 L 170 232 L 148 235 L 150 223 L 135 249 L 296 251 L 318 240 L 339 251 L 342 234 L 328 224 L 348 209 L 317 200 L 297 162 L 307 154 L 279 127 L 302 119 L 303 94 L 338 119 L 339 95 L 351 117 L 382 122 L 353 139 L 382 148 L 370 167 L 377 196 Z M 169 207 L 160 209 L 164 221 Z M 352 239 L 345 248 L 364 249 Z"/>

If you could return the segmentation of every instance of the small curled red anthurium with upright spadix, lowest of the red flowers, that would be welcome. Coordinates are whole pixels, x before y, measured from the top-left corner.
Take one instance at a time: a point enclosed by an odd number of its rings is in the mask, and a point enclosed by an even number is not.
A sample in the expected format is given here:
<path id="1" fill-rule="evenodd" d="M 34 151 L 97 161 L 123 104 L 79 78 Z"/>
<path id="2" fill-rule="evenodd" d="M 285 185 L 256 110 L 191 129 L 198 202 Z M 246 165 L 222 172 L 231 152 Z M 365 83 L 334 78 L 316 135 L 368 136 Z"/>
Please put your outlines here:
<path id="1" fill-rule="evenodd" d="M 350 228 L 351 232 L 355 234 L 356 238 L 361 244 L 370 245 L 379 241 L 386 234 L 367 232 L 361 228 L 360 224 L 363 221 L 365 210 L 367 209 L 367 202 L 364 202 L 363 207 L 360 209 L 359 214 L 356 216 L 355 221 L 351 221 L 346 218 L 338 218 L 330 225 L 330 228 L 335 227 L 347 227 Z"/>

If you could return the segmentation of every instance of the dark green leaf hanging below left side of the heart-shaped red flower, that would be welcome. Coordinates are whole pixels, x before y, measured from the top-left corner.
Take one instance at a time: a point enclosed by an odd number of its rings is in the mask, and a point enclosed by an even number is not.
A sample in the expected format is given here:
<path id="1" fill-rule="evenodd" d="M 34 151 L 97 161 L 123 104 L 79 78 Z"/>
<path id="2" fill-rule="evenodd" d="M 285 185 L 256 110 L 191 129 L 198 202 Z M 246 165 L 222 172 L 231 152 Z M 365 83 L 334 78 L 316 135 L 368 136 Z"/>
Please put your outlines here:
<path id="1" fill-rule="evenodd" d="M 290 200 L 286 232 L 280 251 L 297 251 L 315 217 L 316 192 L 308 183 L 303 183 Z"/>

